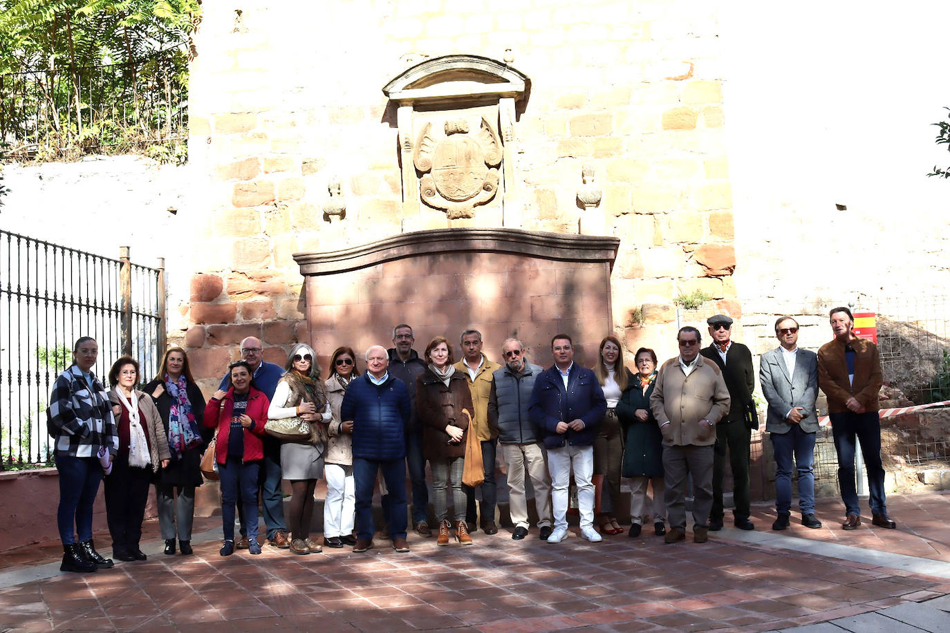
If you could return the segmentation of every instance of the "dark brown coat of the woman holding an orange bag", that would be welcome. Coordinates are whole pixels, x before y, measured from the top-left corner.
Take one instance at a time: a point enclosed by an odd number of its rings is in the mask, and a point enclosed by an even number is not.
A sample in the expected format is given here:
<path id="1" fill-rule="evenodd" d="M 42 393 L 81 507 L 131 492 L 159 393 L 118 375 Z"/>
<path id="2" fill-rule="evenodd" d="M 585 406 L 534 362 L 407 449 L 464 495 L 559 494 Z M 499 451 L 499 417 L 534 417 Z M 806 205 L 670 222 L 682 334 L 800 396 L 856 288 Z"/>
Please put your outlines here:
<path id="1" fill-rule="evenodd" d="M 427 459 L 448 459 L 466 455 L 466 439 L 471 429 L 462 410 L 469 415 L 474 409 L 468 380 L 458 369 L 448 379 L 448 386 L 426 367 L 416 379 L 416 408 L 422 420 L 423 455 Z M 451 424 L 465 430 L 462 441 L 449 443 L 446 427 Z"/>

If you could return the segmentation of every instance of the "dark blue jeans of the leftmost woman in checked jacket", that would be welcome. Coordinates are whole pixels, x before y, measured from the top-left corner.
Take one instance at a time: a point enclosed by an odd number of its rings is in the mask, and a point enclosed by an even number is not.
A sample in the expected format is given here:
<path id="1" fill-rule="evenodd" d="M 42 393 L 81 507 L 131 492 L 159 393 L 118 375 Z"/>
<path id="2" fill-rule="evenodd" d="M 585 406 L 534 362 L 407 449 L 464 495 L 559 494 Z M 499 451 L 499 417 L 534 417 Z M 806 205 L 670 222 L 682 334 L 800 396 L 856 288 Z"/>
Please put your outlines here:
<path id="1" fill-rule="evenodd" d="M 56 509 L 56 525 L 63 545 L 76 543 L 75 521 L 79 542 L 92 540 L 92 507 L 103 480 L 103 467 L 98 457 L 55 456 L 59 471 L 60 502 Z"/>

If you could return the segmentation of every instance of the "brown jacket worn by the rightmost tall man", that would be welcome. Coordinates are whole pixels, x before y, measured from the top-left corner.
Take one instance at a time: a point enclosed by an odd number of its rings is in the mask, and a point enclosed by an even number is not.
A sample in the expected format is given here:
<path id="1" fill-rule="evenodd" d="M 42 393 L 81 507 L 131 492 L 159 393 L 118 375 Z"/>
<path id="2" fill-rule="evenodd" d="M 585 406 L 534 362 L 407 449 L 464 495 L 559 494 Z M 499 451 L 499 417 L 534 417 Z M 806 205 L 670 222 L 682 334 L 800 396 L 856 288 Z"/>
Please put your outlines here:
<path id="1" fill-rule="evenodd" d="M 877 411 L 878 392 L 883 384 L 878 346 L 866 339 L 850 341 L 854 348 L 854 384 L 847 381 L 845 344 L 834 339 L 818 349 L 818 386 L 828 399 L 828 413 L 850 413 L 845 402 L 852 396 L 864 411 Z"/>

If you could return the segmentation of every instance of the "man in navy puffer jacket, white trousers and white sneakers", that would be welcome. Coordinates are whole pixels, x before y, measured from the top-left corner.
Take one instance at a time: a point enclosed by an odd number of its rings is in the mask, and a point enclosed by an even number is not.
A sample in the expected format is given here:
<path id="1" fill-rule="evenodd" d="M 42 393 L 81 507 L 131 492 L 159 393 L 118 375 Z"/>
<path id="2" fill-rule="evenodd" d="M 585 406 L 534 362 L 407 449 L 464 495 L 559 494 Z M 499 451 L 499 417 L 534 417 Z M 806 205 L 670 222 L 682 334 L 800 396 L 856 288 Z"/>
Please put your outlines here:
<path id="1" fill-rule="evenodd" d="M 567 486 L 574 472 L 578 484 L 580 535 L 592 543 L 601 540 L 594 530 L 594 438 L 607 413 L 607 400 L 594 372 L 574 363 L 571 337 L 551 340 L 554 366 L 542 371 L 531 391 L 528 413 L 547 448 L 551 472 L 554 531 L 548 543 L 567 538 Z"/>

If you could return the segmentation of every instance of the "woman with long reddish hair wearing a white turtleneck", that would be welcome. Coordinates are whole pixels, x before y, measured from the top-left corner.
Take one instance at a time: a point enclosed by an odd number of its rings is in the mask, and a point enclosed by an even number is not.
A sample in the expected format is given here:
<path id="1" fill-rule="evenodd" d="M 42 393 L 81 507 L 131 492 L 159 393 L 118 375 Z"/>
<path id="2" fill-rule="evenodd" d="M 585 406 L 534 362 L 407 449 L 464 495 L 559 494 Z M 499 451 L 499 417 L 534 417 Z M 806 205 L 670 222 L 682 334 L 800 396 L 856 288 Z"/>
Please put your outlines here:
<path id="1" fill-rule="evenodd" d="M 595 522 L 604 534 L 619 534 L 623 531 L 617 522 L 620 507 L 620 462 L 623 459 L 623 434 L 617 418 L 617 403 L 620 394 L 632 380 L 630 370 L 623 364 L 623 349 L 615 336 L 600 342 L 598 363 L 594 367 L 604 398 L 607 399 L 607 414 L 600 422 L 594 440 L 594 484 L 597 489 Z M 606 490 L 606 494 L 604 491 Z"/>

